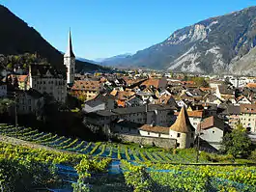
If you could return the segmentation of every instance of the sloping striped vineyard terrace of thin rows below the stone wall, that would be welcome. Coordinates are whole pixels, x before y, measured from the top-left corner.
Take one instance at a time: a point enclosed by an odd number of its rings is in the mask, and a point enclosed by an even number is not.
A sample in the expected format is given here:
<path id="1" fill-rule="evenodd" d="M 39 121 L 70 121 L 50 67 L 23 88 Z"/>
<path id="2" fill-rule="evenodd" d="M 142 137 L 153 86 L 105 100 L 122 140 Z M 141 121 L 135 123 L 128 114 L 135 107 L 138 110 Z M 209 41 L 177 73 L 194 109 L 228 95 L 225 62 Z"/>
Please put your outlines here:
<path id="1" fill-rule="evenodd" d="M 147 150 L 138 147 L 131 147 L 124 144 L 113 144 L 109 142 L 86 142 L 79 139 L 71 139 L 64 136 L 58 136 L 52 133 L 43 133 L 38 130 L 24 127 L 14 127 L 12 125 L 0 126 L 0 134 L 17 139 L 41 144 L 51 148 L 75 151 L 82 154 L 109 157 L 112 159 L 124 159 L 137 162 L 161 162 L 161 163 L 191 163 L 196 157 L 195 153 L 178 153 L 166 152 L 161 149 Z M 206 162 L 199 159 L 200 162 Z"/>

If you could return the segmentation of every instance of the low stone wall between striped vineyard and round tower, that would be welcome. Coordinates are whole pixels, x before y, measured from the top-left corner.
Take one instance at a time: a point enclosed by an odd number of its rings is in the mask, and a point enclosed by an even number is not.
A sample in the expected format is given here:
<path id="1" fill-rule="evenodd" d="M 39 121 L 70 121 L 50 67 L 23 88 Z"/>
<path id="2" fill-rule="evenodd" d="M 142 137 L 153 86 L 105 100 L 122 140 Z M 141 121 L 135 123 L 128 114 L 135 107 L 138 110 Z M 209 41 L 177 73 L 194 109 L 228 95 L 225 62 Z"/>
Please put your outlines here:
<path id="1" fill-rule="evenodd" d="M 132 142 L 141 145 L 156 146 L 166 150 L 176 147 L 176 139 L 159 137 L 143 137 L 138 135 L 116 134 L 116 137 L 123 142 Z"/>

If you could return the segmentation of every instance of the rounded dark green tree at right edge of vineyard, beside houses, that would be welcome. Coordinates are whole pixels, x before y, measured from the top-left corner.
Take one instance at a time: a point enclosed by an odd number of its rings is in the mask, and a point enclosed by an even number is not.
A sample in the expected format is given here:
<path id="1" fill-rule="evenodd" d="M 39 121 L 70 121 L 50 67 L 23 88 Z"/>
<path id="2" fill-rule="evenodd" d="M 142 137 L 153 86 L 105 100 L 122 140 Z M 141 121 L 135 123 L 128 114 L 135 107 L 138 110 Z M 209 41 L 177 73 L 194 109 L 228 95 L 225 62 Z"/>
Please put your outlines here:
<path id="1" fill-rule="evenodd" d="M 225 134 L 222 140 L 223 151 L 232 154 L 234 157 L 246 157 L 252 151 L 252 143 L 246 134 L 246 129 L 242 124 L 238 124 L 236 129 Z"/>

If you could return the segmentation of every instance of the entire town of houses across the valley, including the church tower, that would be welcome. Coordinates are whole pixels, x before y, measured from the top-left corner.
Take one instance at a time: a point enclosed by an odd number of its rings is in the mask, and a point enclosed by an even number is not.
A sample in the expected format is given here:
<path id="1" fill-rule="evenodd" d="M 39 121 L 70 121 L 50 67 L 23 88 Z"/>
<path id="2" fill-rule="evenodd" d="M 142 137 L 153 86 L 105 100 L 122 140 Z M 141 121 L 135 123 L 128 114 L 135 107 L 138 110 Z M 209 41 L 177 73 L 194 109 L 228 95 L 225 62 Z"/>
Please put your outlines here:
<path id="1" fill-rule="evenodd" d="M 35 114 L 42 110 L 45 94 L 60 103 L 70 94 L 83 101 L 83 122 L 100 127 L 109 138 L 172 139 L 180 149 L 193 147 L 200 139 L 205 148 L 218 150 L 224 134 L 238 123 L 251 135 L 256 132 L 255 78 L 208 76 L 209 86 L 200 87 L 184 80 L 183 73 L 75 74 L 71 33 L 64 65 L 66 72 L 38 64 L 27 74 L 9 72 L 0 81 L 0 97 L 15 94 L 17 113 Z"/>

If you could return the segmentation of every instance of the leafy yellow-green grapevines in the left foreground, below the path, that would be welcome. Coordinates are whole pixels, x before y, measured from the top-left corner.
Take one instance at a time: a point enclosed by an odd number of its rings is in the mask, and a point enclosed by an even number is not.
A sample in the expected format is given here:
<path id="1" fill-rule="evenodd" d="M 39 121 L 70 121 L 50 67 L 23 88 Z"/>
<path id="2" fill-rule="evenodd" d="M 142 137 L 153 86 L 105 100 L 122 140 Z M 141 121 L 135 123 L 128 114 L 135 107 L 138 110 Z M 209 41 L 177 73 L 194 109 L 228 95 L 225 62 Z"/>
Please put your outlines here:
<path id="1" fill-rule="evenodd" d="M 34 191 L 35 188 L 62 185 L 59 168 L 63 165 L 73 166 L 78 174 L 78 180 L 74 178 L 75 191 L 77 185 L 81 184 L 80 178 L 104 173 L 110 161 L 79 153 L 37 150 L 0 142 L 0 189 L 10 192 Z"/>

